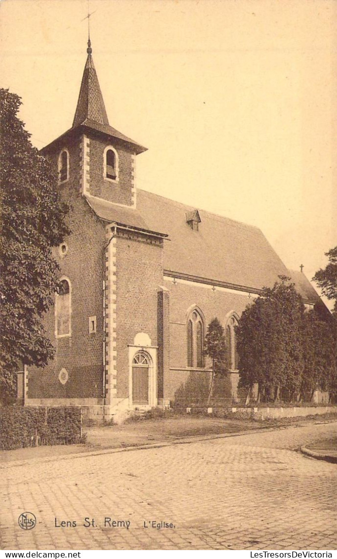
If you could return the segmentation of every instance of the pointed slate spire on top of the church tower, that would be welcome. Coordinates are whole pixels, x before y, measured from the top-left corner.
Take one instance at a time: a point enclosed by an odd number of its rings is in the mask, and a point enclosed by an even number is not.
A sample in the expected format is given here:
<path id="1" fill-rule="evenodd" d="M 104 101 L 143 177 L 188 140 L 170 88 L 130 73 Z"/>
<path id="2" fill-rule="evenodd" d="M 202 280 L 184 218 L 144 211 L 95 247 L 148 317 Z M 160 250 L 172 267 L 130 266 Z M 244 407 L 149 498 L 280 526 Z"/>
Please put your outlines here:
<path id="1" fill-rule="evenodd" d="M 107 111 L 105 111 L 102 92 L 100 91 L 97 73 L 92 57 L 92 44 L 88 39 L 88 58 L 86 59 L 80 94 L 76 106 L 73 128 L 82 124 L 86 119 L 109 126 Z"/>

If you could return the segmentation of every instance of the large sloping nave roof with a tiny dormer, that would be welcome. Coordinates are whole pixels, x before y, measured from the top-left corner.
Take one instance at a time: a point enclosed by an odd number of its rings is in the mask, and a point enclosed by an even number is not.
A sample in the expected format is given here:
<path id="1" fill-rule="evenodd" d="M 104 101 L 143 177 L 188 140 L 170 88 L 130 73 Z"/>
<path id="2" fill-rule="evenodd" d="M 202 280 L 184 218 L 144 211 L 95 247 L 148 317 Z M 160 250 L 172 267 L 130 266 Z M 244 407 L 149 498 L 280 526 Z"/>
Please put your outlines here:
<path id="1" fill-rule="evenodd" d="M 199 230 L 185 214 L 195 208 L 143 190 L 137 210 L 153 231 L 169 234 L 164 268 L 214 281 L 261 289 L 272 286 L 288 270 L 262 232 L 251 225 L 198 210 Z"/>

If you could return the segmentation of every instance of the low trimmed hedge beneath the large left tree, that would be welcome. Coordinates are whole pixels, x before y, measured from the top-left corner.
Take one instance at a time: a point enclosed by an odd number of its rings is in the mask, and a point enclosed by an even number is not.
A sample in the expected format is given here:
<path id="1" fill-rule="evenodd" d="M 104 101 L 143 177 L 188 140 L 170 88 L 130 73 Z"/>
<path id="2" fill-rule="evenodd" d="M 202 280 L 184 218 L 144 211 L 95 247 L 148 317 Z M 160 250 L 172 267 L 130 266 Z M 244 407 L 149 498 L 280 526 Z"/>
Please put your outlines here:
<path id="1" fill-rule="evenodd" d="M 0 408 L 0 449 L 74 444 L 80 439 L 80 408 Z"/>

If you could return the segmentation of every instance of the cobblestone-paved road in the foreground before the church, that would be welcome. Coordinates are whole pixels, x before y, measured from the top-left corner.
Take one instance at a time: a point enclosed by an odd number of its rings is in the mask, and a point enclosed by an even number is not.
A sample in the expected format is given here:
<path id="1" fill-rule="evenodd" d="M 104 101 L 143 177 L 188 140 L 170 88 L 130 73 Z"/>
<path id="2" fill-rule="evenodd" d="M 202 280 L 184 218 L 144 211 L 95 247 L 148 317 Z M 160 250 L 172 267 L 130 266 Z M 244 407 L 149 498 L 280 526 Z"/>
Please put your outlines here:
<path id="1" fill-rule="evenodd" d="M 1 548 L 337 549 L 337 466 L 295 452 L 336 432 L 328 423 L 12 463 L 1 468 Z M 24 511 L 32 530 L 18 526 Z"/>

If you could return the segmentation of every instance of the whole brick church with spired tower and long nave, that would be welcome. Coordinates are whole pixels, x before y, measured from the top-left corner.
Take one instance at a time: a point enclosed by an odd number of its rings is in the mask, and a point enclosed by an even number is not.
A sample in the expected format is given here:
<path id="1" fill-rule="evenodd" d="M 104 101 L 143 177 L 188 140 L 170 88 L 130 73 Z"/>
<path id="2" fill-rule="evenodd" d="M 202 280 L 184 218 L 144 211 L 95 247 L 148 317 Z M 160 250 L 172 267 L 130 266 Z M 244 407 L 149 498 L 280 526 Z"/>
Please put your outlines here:
<path id="1" fill-rule="evenodd" d="M 247 304 L 291 276 L 320 301 L 262 232 L 137 189 L 146 150 L 109 125 L 90 40 L 73 126 L 41 150 L 70 202 L 71 235 L 55 257 L 59 292 L 45 320 L 55 358 L 30 367 L 25 405 L 78 405 L 89 418 L 198 404 L 208 391 L 203 344 L 218 318 L 229 373 L 219 401 L 238 402 L 235 324 Z"/>

